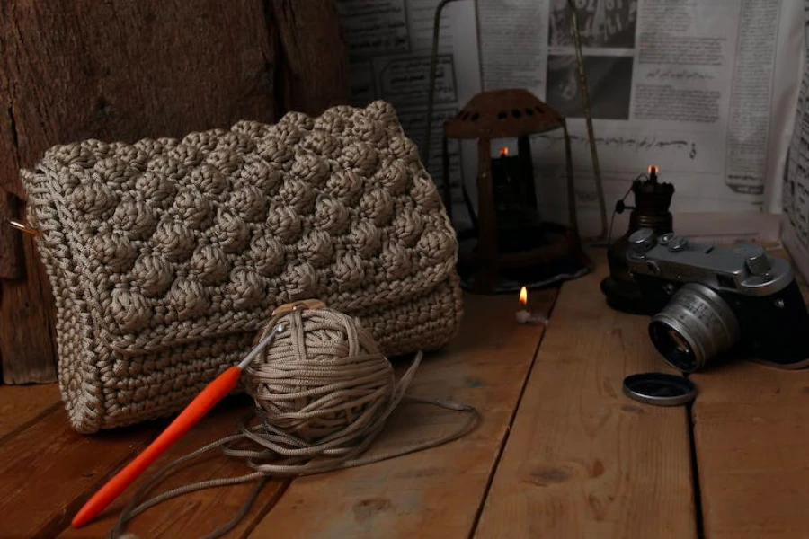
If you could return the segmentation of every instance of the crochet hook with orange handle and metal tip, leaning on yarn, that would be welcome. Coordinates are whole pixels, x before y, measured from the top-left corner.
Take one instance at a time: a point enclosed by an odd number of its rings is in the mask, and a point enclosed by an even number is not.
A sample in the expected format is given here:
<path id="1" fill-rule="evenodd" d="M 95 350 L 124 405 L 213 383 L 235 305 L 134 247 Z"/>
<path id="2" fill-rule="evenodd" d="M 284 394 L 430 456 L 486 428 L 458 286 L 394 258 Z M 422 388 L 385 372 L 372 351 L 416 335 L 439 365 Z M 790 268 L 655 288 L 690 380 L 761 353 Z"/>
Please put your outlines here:
<path id="1" fill-rule="evenodd" d="M 162 455 L 166 449 L 173 445 L 188 429 L 191 429 L 197 421 L 202 419 L 217 402 L 221 401 L 227 393 L 236 386 L 236 381 L 242 373 L 242 369 L 250 365 L 256 354 L 258 354 L 271 340 L 275 337 L 276 333 L 283 331 L 281 324 L 272 328 L 272 331 L 244 358 L 244 361 L 237 366 L 228 368 L 224 373 L 217 376 L 217 378 L 208 384 L 199 395 L 197 395 L 191 403 L 186 406 L 185 410 L 177 416 L 175 420 L 156 437 L 143 452 L 135 457 L 135 459 L 127 464 L 127 466 L 116 473 L 112 479 L 107 482 L 101 490 L 93 494 L 93 498 L 87 500 L 84 507 L 79 509 L 76 517 L 73 517 L 71 526 L 78 528 L 84 526 L 99 513 L 112 503 L 121 492 L 129 487 L 133 481 L 138 478 L 138 475 L 147 469 L 149 464 L 152 464 L 155 459 Z"/>

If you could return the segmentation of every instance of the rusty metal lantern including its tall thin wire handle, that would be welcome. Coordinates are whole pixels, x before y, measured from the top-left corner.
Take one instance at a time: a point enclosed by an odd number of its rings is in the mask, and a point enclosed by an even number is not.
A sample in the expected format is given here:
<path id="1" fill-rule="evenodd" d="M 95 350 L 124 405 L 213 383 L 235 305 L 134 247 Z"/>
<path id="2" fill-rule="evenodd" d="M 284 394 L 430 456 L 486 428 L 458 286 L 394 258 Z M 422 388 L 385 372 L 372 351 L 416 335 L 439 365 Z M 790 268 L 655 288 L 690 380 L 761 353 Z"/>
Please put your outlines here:
<path id="1" fill-rule="evenodd" d="M 435 102 L 435 79 L 438 65 L 438 46 L 440 35 L 441 12 L 447 4 L 458 0 L 440 0 L 436 6 L 433 22 L 432 54 L 430 66 L 430 88 L 427 99 L 427 122 L 425 126 L 424 142 L 422 146 L 422 161 L 429 166 L 432 136 L 432 114 Z M 571 32 L 576 51 L 579 79 L 582 87 L 582 104 L 587 125 L 588 141 L 591 152 L 593 177 L 599 199 L 601 231 L 598 239 L 607 237 L 607 212 L 604 203 L 604 193 L 601 185 L 598 152 L 595 145 L 595 136 L 592 129 L 590 111 L 590 97 L 587 90 L 587 80 L 584 74 L 582 58 L 582 43 L 578 30 L 577 9 L 573 0 L 567 2 L 571 14 Z M 524 202 L 532 204 L 536 209 L 536 195 L 533 185 L 533 166 L 530 151 L 529 137 L 553 129 L 561 128 L 565 135 L 565 160 L 567 173 L 567 199 L 570 225 L 542 223 L 540 232 L 555 235 L 555 242 L 545 242 L 541 246 L 528 246 L 527 249 L 511 252 L 501 252 L 498 245 L 498 221 L 495 210 L 493 170 L 491 159 L 491 141 L 496 138 L 516 137 L 518 139 L 518 156 L 522 163 L 522 180 L 528 181 L 524 190 L 520 192 Z M 575 193 L 573 189 L 573 163 L 570 147 L 570 137 L 567 132 L 565 118 L 552 110 L 546 103 L 538 100 L 527 90 L 508 89 L 476 94 L 472 100 L 461 110 L 456 118 L 449 119 L 443 128 L 443 199 L 445 207 L 452 216 L 451 186 L 449 185 L 449 152 L 448 139 L 466 138 L 477 139 L 478 161 L 478 213 L 477 223 L 473 228 L 478 231 L 478 243 L 472 253 L 463 251 L 458 253 L 459 270 L 471 267 L 474 274 L 472 288 L 476 292 L 488 293 L 498 288 L 499 270 L 512 270 L 520 268 L 540 268 L 546 266 L 546 274 L 559 272 L 565 274 L 573 266 L 591 266 L 591 262 L 584 255 L 578 233 L 576 219 Z M 462 186 L 463 187 L 463 186 Z M 465 198 L 467 193 L 464 190 Z M 467 206 L 470 206 L 467 200 Z M 472 212 L 470 211 L 470 214 Z M 503 214 L 501 214 L 503 215 Z M 471 215 L 470 215 L 471 216 Z M 474 216 L 473 216 L 474 218 Z M 545 234 L 540 234 L 545 235 Z M 461 239 L 461 238 L 459 238 Z M 571 263 L 571 261 L 573 261 Z M 549 277 L 549 275 L 547 275 Z M 533 280 L 533 279 L 532 279 Z M 548 279 L 552 280 L 552 279 Z M 540 279 L 540 282 L 541 279 Z"/>

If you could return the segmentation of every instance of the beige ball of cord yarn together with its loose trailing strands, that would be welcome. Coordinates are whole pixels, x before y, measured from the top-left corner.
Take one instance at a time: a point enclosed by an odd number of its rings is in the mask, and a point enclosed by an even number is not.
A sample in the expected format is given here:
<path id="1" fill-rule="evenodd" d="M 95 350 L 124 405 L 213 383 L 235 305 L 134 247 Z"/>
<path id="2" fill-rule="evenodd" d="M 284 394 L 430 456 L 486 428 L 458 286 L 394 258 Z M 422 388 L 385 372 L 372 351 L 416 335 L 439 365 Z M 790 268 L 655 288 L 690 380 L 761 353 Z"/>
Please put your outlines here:
<path id="1" fill-rule="evenodd" d="M 206 539 L 221 537 L 238 525 L 271 477 L 332 472 L 422 451 L 465 436 L 480 420 L 477 409 L 467 404 L 405 396 L 422 352 L 396 382 L 388 359 L 351 316 L 328 308 L 295 309 L 273 317 L 254 342 L 263 340 L 278 324 L 283 325 L 283 331 L 242 375 L 245 390 L 255 404 L 253 416 L 241 421 L 235 435 L 164 466 L 135 493 L 108 536 L 120 537 L 130 519 L 168 499 L 195 490 L 257 481 L 236 516 L 206 535 Z M 403 401 L 465 412 L 469 418 L 457 430 L 436 439 L 364 455 Z M 182 464 L 219 447 L 227 456 L 244 459 L 252 472 L 192 483 L 140 502 Z"/>

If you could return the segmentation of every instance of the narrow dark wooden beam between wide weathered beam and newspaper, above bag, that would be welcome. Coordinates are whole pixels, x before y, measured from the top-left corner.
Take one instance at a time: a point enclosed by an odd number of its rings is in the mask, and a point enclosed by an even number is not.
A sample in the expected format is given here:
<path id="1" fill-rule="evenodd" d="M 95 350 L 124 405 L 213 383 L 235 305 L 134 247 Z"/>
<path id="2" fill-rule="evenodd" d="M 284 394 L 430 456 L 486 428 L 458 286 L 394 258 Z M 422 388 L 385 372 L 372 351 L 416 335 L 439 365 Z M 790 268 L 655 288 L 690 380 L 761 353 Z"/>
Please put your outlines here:
<path id="1" fill-rule="evenodd" d="M 333 0 L 269 0 L 283 58 L 283 110 L 319 115 L 349 104 L 348 44 Z"/>

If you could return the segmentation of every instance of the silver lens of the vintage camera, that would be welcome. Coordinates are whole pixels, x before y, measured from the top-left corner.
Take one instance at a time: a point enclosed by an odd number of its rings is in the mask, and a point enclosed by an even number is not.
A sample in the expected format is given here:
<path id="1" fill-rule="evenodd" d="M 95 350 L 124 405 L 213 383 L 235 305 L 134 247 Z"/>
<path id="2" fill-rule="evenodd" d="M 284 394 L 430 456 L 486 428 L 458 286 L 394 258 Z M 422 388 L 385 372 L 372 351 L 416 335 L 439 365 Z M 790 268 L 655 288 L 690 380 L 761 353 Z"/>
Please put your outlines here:
<path id="1" fill-rule="evenodd" d="M 716 292 L 689 283 L 653 316 L 649 337 L 672 367 L 690 373 L 733 348 L 739 340 L 739 323 Z"/>

